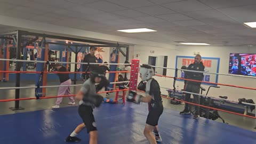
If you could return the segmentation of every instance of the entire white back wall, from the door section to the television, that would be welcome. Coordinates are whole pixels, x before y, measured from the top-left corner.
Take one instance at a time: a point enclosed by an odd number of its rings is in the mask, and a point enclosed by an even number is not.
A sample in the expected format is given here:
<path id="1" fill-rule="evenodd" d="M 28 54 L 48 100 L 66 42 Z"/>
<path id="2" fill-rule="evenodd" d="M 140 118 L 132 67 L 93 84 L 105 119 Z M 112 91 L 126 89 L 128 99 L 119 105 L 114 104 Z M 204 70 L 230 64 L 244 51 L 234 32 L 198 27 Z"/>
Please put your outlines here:
<path id="1" fill-rule="evenodd" d="M 175 49 L 175 50 L 172 50 Z M 150 51 L 155 50 L 155 53 L 150 53 Z M 256 53 L 256 47 L 247 47 L 247 46 L 173 46 L 166 47 L 166 49 L 159 47 L 150 47 L 143 45 L 135 45 L 133 58 L 136 58 L 138 54 L 138 59 L 140 63 L 148 63 L 149 56 L 156 55 L 167 55 L 167 67 L 175 68 L 176 55 L 192 56 L 194 57 L 194 52 L 198 51 L 202 57 L 214 57 L 220 58 L 220 67 L 219 73 L 228 74 L 228 65 L 229 65 L 229 53 Z M 167 69 L 167 76 L 174 76 L 174 70 Z M 161 87 L 166 87 L 173 89 L 173 78 L 164 78 L 154 76 L 155 79 L 159 82 Z M 140 81 L 140 78 L 139 78 Z M 221 76 L 219 75 L 218 83 L 230 84 L 230 85 L 239 85 L 245 87 L 255 87 L 256 78 L 252 77 L 234 77 L 234 76 Z M 183 82 L 177 81 L 178 89 L 183 88 Z M 208 89 L 208 85 L 202 85 Z M 161 89 L 162 94 L 166 94 L 165 89 Z M 205 92 L 206 93 L 206 92 Z M 236 87 L 221 86 L 219 89 L 210 89 L 209 94 L 212 97 L 219 97 L 219 95 L 228 96 L 229 100 L 238 101 L 238 98 L 253 99 L 256 101 L 256 91 L 239 89 Z"/>

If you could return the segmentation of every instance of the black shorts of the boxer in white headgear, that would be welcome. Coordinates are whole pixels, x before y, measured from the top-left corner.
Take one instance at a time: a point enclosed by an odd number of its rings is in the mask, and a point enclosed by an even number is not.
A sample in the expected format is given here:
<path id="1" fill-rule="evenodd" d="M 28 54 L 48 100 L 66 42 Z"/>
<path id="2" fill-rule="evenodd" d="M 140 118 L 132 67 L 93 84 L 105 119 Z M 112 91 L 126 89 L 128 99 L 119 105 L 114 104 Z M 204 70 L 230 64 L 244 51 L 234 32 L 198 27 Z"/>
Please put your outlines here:
<path id="1" fill-rule="evenodd" d="M 159 120 L 159 117 L 163 114 L 163 110 L 164 110 L 163 105 L 155 106 L 155 107 L 149 106 L 149 113 L 148 113 L 146 124 L 151 126 L 158 125 L 158 120 Z"/>

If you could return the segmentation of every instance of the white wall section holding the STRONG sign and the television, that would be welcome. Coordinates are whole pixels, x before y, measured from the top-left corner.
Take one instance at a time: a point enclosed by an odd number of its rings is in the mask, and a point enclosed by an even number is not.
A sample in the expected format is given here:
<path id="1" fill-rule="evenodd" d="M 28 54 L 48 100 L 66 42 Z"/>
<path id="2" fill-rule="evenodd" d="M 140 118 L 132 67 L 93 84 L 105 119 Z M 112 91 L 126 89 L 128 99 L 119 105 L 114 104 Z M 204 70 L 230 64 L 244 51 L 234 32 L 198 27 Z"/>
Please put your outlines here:
<path id="1" fill-rule="evenodd" d="M 256 53 L 256 47 L 247 46 L 177 46 L 176 55 L 194 56 L 194 52 L 200 52 L 202 57 L 220 58 L 219 73 L 228 74 L 229 54 L 230 53 Z M 219 75 L 218 83 L 238 85 L 256 88 L 256 78 L 252 77 L 235 77 Z M 177 83 L 177 85 L 183 83 Z M 206 89 L 208 85 L 203 85 Z M 226 95 L 228 99 L 238 101 L 238 98 L 253 99 L 256 101 L 256 91 L 246 90 L 236 87 L 221 86 L 219 89 L 210 89 L 209 95 L 219 97 Z"/>

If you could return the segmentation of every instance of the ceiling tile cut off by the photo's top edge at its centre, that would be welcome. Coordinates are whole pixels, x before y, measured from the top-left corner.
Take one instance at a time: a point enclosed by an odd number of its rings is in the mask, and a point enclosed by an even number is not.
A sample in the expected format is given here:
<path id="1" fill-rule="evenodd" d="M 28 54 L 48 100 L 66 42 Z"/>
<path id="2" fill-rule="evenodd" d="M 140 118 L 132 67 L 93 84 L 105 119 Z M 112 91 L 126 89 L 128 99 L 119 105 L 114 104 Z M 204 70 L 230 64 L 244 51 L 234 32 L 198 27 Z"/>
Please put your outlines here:
<path id="1" fill-rule="evenodd" d="M 156 5 L 155 3 L 152 3 L 147 0 L 106 0 L 111 3 L 115 3 L 124 7 L 129 8 L 135 8 L 135 7 L 142 7 L 142 6 L 150 6 L 150 5 Z"/>

